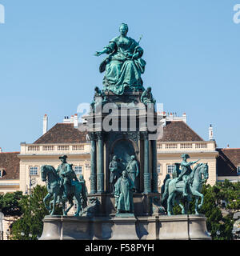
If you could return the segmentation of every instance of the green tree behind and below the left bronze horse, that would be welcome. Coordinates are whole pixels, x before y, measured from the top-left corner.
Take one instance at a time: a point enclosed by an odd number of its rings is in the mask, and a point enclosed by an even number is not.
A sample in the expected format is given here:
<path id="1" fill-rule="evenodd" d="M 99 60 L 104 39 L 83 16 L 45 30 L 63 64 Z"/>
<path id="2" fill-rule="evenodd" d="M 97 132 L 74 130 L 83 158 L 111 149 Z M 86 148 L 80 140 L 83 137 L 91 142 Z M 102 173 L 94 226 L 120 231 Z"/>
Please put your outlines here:
<path id="1" fill-rule="evenodd" d="M 36 240 L 42 234 L 42 219 L 48 215 L 48 211 L 43 203 L 46 197 L 46 186 L 35 186 L 31 195 L 22 198 L 19 205 L 22 207 L 22 216 L 11 226 L 11 239 L 13 240 Z M 57 209 L 57 214 L 61 209 Z M 21 233 L 25 235 L 21 235 Z M 32 237 L 29 237 L 32 234 Z"/>

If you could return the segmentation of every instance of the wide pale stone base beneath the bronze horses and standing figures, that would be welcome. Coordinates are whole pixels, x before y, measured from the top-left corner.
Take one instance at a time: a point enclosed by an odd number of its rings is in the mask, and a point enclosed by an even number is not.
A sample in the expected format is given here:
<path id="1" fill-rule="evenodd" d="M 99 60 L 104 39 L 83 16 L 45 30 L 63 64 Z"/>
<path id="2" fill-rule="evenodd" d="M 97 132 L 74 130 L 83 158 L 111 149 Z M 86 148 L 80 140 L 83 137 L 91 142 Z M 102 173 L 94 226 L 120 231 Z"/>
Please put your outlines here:
<path id="1" fill-rule="evenodd" d="M 159 215 L 135 217 L 46 216 L 40 240 L 210 240 L 206 217 Z"/>

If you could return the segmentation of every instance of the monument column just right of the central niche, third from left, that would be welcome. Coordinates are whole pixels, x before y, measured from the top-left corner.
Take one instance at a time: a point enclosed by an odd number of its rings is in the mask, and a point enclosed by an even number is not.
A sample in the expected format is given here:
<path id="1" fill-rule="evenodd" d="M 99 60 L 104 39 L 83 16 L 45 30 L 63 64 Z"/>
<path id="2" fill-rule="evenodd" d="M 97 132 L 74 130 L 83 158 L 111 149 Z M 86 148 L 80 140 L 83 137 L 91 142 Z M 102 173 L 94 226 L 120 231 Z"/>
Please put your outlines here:
<path id="1" fill-rule="evenodd" d="M 144 138 L 144 193 L 149 194 L 151 192 L 150 184 L 150 168 L 149 168 L 149 140 L 148 133 L 143 132 Z"/>

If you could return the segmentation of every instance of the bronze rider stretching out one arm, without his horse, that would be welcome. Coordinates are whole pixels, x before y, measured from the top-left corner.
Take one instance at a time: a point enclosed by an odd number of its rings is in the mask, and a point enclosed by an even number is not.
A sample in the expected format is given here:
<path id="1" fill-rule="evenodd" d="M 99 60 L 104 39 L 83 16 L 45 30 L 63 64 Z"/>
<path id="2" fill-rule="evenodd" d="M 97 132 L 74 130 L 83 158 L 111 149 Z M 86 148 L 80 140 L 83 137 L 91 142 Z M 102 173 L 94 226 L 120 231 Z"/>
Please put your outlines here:
<path id="1" fill-rule="evenodd" d="M 190 156 L 188 154 L 182 154 L 181 158 L 182 158 L 182 162 L 181 162 L 180 166 L 181 166 L 182 172 L 181 172 L 181 174 L 179 174 L 179 176 L 176 180 L 176 183 L 180 182 L 180 181 L 184 182 L 183 196 L 186 197 L 188 195 L 187 194 L 187 187 L 189 185 L 188 178 L 189 178 L 190 173 L 192 172 L 192 169 L 190 166 L 192 166 L 192 165 L 194 165 L 194 163 L 198 162 L 199 159 L 194 162 L 186 162 L 186 159 L 190 158 Z"/>

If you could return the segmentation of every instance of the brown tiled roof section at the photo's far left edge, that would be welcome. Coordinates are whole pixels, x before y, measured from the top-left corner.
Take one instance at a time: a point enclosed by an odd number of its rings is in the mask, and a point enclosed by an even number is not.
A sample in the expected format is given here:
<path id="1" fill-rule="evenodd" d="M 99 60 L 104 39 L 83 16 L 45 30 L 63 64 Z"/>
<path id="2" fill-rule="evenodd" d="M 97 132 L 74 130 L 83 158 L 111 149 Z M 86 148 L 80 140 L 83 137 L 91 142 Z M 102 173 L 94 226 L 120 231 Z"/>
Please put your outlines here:
<path id="1" fill-rule="evenodd" d="M 0 170 L 4 170 L 1 179 L 19 179 L 20 152 L 0 153 Z"/>

